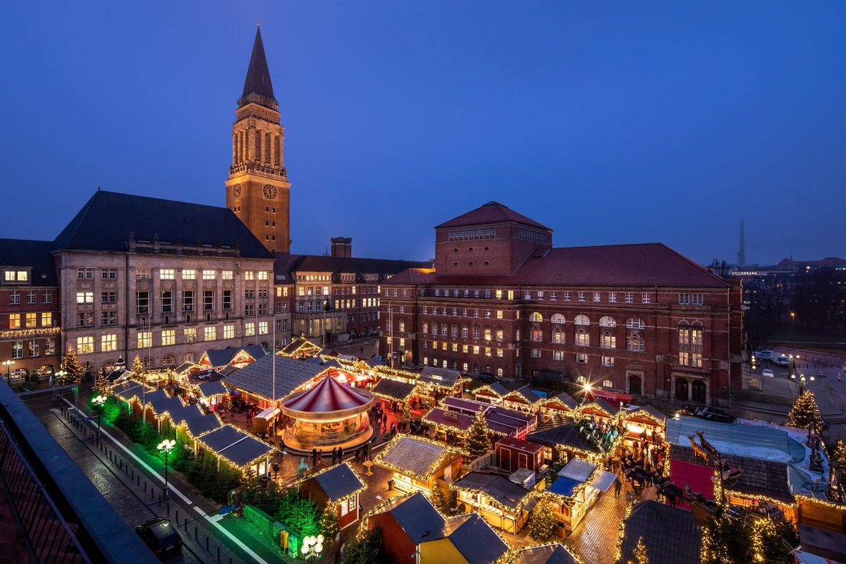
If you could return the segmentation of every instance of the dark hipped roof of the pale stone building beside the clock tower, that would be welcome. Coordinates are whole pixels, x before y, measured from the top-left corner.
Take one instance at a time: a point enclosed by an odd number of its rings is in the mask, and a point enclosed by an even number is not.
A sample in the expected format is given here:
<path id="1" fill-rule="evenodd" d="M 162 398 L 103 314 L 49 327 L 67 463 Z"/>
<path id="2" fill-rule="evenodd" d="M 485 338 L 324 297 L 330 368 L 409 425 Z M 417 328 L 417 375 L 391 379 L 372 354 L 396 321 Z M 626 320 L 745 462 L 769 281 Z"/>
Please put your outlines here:
<path id="1" fill-rule="evenodd" d="M 58 234 L 54 248 L 126 252 L 129 233 L 136 241 L 152 242 L 158 236 L 165 249 L 173 249 L 179 241 L 186 249 L 196 248 L 199 239 L 211 245 L 206 249 L 209 255 L 219 242 L 222 247 L 237 247 L 243 257 L 272 258 L 228 208 L 107 190 L 97 190 L 91 196 Z"/>

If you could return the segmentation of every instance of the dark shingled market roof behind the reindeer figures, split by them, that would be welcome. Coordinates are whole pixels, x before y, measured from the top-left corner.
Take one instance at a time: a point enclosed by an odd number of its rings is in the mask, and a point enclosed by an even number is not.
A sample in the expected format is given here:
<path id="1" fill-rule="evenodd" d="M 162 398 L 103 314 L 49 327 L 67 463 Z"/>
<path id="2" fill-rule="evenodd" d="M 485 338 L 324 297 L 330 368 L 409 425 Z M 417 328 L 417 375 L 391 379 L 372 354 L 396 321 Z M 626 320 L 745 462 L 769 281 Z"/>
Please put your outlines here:
<path id="1" fill-rule="evenodd" d="M 707 438 L 707 437 L 706 437 Z M 788 482 L 788 464 L 759 458 L 739 457 L 734 454 L 721 453 L 722 459 L 728 464 L 728 468 L 739 466 L 743 470 L 743 476 L 738 482 L 728 487 L 732 490 L 748 496 L 768 496 L 772 499 L 793 503 L 794 496 Z M 678 460 L 684 463 L 697 466 L 707 466 L 701 457 L 695 456 L 690 446 L 670 446 L 670 460 Z M 673 464 L 670 463 L 670 471 L 673 471 Z"/>

